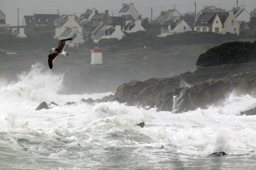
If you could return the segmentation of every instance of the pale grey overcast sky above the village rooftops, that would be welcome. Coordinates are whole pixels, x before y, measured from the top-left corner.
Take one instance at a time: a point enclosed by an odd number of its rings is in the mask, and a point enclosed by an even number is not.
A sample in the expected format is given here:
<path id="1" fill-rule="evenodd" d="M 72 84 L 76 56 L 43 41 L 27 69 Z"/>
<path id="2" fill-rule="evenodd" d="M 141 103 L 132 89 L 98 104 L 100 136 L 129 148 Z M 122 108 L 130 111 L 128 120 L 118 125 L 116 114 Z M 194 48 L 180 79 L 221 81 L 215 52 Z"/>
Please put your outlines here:
<path id="1" fill-rule="evenodd" d="M 160 14 L 161 10 L 175 8 L 184 14 L 187 11 L 194 11 L 196 1 L 197 11 L 203 6 L 217 6 L 226 10 L 231 10 L 236 6 L 236 0 L 0 0 L 0 9 L 6 15 L 6 23 L 11 26 L 17 25 L 17 8 L 19 10 L 19 24 L 22 24 L 24 15 L 33 13 L 57 13 L 59 9 L 61 14 L 74 14 L 80 16 L 86 8 L 95 7 L 99 12 L 109 10 L 109 15 L 117 16 L 122 8 L 122 3 L 134 3 L 142 17 L 151 18 L 151 8 L 153 7 L 153 18 Z M 186 5 L 185 5 L 186 4 Z M 250 13 L 256 8 L 256 0 L 239 0 L 239 5 L 245 4 L 245 9 Z M 148 8 L 147 8 L 148 7 Z"/>

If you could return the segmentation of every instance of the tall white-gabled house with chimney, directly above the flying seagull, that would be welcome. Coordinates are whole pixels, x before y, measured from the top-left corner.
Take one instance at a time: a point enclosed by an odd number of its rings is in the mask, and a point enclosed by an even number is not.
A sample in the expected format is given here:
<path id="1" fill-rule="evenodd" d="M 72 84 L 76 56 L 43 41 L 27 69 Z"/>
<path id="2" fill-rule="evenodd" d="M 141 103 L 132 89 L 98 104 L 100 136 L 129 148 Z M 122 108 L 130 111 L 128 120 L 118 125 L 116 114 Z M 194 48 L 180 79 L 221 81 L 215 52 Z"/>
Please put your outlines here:
<path id="1" fill-rule="evenodd" d="M 78 24 L 75 20 L 75 15 L 68 15 L 63 18 L 59 22 L 59 24 L 55 27 L 55 36 L 54 38 L 59 38 L 60 34 L 62 34 L 68 27 L 77 27 L 77 31 L 79 33 L 83 33 L 83 28 Z"/>

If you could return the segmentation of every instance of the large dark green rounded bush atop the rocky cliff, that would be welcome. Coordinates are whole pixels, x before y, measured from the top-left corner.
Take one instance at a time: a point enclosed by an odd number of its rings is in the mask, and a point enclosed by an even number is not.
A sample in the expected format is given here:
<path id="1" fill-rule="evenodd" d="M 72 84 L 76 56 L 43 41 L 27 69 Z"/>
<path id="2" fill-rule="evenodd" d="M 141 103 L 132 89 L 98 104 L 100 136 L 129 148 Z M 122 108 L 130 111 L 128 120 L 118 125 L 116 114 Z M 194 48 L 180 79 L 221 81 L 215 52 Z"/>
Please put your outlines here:
<path id="1" fill-rule="evenodd" d="M 209 67 L 255 61 L 256 41 L 254 43 L 233 41 L 210 48 L 198 57 L 196 65 Z"/>

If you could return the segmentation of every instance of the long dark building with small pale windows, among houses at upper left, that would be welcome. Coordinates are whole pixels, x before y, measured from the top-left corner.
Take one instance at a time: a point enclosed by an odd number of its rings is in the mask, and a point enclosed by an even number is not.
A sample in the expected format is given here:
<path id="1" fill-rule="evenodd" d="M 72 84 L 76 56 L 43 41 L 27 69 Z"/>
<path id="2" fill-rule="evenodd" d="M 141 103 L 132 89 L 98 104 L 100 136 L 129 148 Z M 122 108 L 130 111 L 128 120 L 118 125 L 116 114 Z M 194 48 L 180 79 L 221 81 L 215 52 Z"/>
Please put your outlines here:
<path id="1" fill-rule="evenodd" d="M 22 26 L 54 26 L 53 21 L 58 17 L 58 14 L 33 14 L 33 16 L 24 16 Z"/>

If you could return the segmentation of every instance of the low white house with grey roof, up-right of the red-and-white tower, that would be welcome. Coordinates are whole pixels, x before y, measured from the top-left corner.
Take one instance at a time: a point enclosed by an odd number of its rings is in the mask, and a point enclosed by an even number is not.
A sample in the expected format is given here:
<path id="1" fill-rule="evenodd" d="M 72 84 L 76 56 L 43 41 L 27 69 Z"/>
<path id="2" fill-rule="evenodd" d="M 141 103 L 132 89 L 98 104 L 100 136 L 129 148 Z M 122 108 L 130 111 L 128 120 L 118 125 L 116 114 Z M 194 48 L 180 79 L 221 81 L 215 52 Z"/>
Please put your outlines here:
<path id="1" fill-rule="evenodd" d="M 98 43 L 102 38 L 117 38 L 118 40 L 121 40 L 123 35 L 124 33 L 121 31 L 121 26 L 108 26 L 105 31 L 99 31 L 96 33 L 92 40 L 95 43 Z"/>

